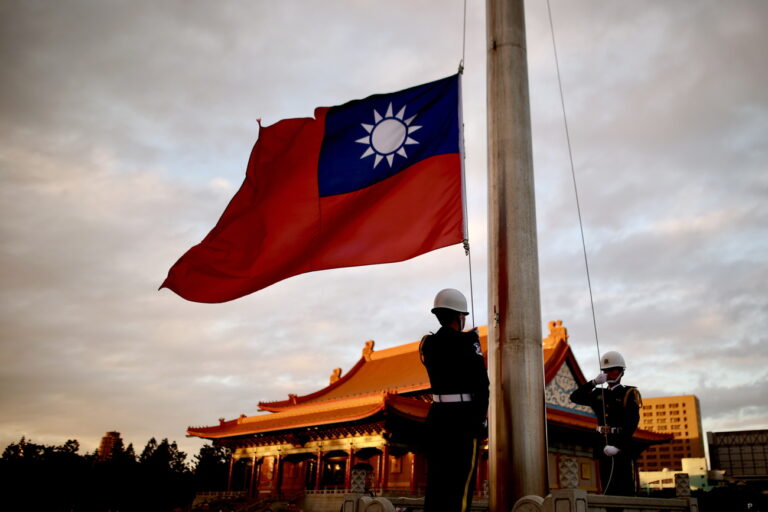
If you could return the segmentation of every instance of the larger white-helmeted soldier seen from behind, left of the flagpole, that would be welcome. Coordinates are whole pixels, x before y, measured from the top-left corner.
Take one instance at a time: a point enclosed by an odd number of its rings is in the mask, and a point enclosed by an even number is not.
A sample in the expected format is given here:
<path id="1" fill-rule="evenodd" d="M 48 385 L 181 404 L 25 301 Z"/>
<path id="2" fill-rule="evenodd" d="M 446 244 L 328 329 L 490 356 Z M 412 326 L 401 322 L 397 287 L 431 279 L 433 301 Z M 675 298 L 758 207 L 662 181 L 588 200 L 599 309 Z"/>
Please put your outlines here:
<path id="1" fill-rule="evenodd" d="M 480 442 L 486 436 L 489 382 L 477 330 L 464 332 L 467 299 L 452 288 L 435 296 L 440 322 L 421 340 L 432 405 L 426 422 L 425 512 L 466 512 L 472 504 Z"/>

